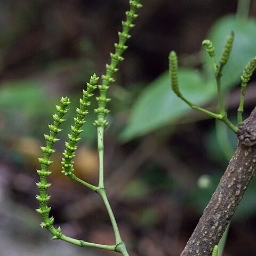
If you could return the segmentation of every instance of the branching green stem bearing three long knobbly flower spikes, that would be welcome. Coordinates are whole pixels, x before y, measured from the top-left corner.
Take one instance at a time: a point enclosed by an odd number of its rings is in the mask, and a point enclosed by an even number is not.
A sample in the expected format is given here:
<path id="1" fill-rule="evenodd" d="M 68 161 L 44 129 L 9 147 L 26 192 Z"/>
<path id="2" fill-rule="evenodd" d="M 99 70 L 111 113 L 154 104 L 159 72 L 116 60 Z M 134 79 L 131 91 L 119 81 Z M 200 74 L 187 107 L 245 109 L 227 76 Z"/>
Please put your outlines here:
<path id="1" fill-rule="evenodd" d="M 69 242 L 78 246 L 89 246 L 97 247 L 100 249 L 106 249 L 109 251 L 116 251 L 122 253 L 123 255 L 129 255 L 126 250 L 125 243 L 123 242 L 121 235 L 118 230 L 116 219 L 111 206 L 108 201 L 104 186 L 104 166 L 103 166 L 103 139 L 104 139 L 104 130 L 108 125 L 106 121 L 106 115 L 109 113 L 109 110 L 106 108 L 107 103 L 110 101 L 107 98 L 107 92 L 109 85 L 115 81 L 114 75 L 118 71 L 117 65 L 119 62 L 123 61 L 122 57 L 123 52 L 127 49 L 125 45 L 127 39 L 131 37 L 129 31 L 135 25 L 133 20 L 138 17 L 137 10 L 142 7 L 141 0 L 130 0 L 130 10 L 126 12 L 126 20 L 122 21 L 123 31 L 118 32 L 119 42 L 115 43 L 115 53 L 110 53 L 111 62 L 106 65 L 106 74 L 102 75 L 102 84 L 98 85 L 99 77 L 95 74 L 91 76 L 90 82 L 87 83 L 87 89 L 83 90 L 83 97 L 79 101 L 79 107 L 76 109 L 76 117 L 74 117 L 74 124 L 71 126 L 71 132 L 68 134 L 68 141 L 65 143 L 66 149 L 62 153 L 63 158 L 61 161 L 62 164 L 62 173 L 65 174 L 69 179 L 82 183 L 87 188 L 96 192 L 103 200 L 111 224 L 113 226 L 115 234 L 115 244 L 114 245 L 105 245 L 105 244 L 96 244 L 89 243 L 83 240 L 74 239 L 64 235 L 61 231 L 61 228 L 54 227 L 54 218 L 50 217 L 51 207 L 47 205 L 47 202 L 50 199 L 50 195 L 46 194 L 47 189 L 51 186 L 50 183 L 47 183 L 47 177 L 51 174 L 49 166 L 52 164 L 50 159 L 51 155 L 54 153 L 54 143 L 59 139 L 56 138 L 56 135 L 62 130 L 60 129 L 61 123 L 65 122 L 63 118 L 67 113 L 68 105 L 70 104 L 69 98 L 61 98 L 60 105 L 56 106 L 57 113 L 53 115 L 53 124 L 49 124 L 49 134 L 45 134 L 46 146 L 41 147 L 43 151 L 43 156 L 39 158 L 39 163 L 41 163 L 41 170 L 37 170 L 39 175 L 39 182 L 36 183 L 39 189 L 39 195 L 36 196 L 37 201 L 39 202 L 39 209 L 36 211 L 41 214 L 43 222 L 42 227 L 46 228 L 52 234 L 52 239 L 61 239 L 62 241 Z M 88 113 L 88 107 L 91 103 L 91 98 L 94 95 L 95 89 L 99 87 L 100 95 L 97 97 L 98 108 L 94 109 L 94 112 L 97 114 L 97 120 L 95 120 L 94 125 L 97 127 L 98 134 L 98 152 L 99 152 L 99 183 L 98 186 L 94 186 L 90 183 L 87 183 L 76 177 L 74 173 L 74 157 L 75 150 L 77 149 L 76 143 L 79 141 L 79 134 L 83 131 L 82 126 L 85 123 L 85 116 Z"/>

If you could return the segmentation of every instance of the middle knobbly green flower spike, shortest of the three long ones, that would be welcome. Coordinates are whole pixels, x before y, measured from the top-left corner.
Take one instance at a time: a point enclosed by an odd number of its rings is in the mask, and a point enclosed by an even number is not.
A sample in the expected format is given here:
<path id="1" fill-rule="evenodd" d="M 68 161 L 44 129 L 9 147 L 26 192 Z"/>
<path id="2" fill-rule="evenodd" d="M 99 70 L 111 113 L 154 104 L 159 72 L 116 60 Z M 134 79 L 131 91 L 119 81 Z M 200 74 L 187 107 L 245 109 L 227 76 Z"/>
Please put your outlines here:
<path id="1" fill-rule="evenodd" d="M 97 88 L 99 77 L 94 74 L 91 76 L 90 83 L 87 83 L 86 91 L 83 90 L 83 99 L 79 101 L 79 108 L 76 109 L 77 116 L 74 117 L 74 125 L 71 125 L 71 134 L 68 134 L 68 142 L 65 142 L 66 149 L 62 153 L 63 158 L 61 161 L 62 164 L 62 173 L 67 175 L 70 179 L 75 178 L 74 172 L 74 161 L 73 158 L 75 157 L 75 150 L 77 149 L 76 143 L 81 138 L 79 138 L 79 134 L 83 132 L 81 129 L 83 124 L 86 122 L 84 121 L 85 116 L 89 113 L 87 108 L 90 106 L 91 101 L 90 98 L 94 95 L 94 90 Z"/>

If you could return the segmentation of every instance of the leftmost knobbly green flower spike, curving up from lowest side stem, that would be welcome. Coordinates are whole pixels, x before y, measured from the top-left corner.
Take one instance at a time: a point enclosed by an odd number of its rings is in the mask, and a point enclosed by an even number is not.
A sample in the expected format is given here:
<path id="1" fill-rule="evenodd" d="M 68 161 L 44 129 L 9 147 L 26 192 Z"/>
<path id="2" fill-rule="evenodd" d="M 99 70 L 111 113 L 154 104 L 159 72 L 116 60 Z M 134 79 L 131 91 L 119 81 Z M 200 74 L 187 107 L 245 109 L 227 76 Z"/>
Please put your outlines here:
<path id="1" fill-rule="evenodd" d="M 43 157 L 38 158 L 39 163 L 41 163 L 41 170 L 37 170 L 37 174 L 39 175 L 40 181 L 36 183 L 36 186 L 39 189 L 39 195 L 36 195 L 36 199 L 39 202 L 39 209 L 36 209 L 36 211 L 39 214 L 41 214 L 43 218 L 41 226 L 47 229 L 53 227 L 54 218 L 49 218 L 49 212 L 51 211 L 51 207 L 47 206 L 47 202 L 49 201 L 51 196 L 46 194 L 46 190 L 51 186 L 51 184 L 47 183 L 46 179 L 51 174 L 51 171 L 49 171 L 49 166 L 53 162 L 50 160 L 50 157 L 55 152 L 55 150 L 52 147 L 54 143 L 59 140 L 55 137 L 60 131 L 62 131 L 62 129 L 60 129 L 59 126 L 61 123 L 66 121 L 65 119 L 63 119 L 63 116 L 68 111 L 67 106 L 69 105 L 69 103 L 69 98 L 62 97 L 60 100 L 60 106 L 56 106 L 57 113 L 53 115 L 53 124 L 48 125 L 50 134 L 44 135 L 44 138 L 46 140 L 46 147 L 41 147 L 41 150 L 43 151 Z M 57 235 L 60 234 L 61 230 L 59 228 Z"/>

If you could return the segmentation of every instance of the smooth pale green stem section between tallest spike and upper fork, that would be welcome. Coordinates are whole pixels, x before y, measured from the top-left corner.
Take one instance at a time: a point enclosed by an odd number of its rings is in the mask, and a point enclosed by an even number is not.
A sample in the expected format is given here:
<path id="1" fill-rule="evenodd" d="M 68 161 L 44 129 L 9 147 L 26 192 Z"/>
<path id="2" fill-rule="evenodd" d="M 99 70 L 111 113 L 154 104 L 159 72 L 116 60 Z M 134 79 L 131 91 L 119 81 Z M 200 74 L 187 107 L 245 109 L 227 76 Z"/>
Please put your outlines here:
<path id="1" fill-rule="evenodd" d="M 104 166 L 103 166 L 103 156 L 104 156 L 104 127 L 98 126 L 98 153 L 99 153 L 99 187 L 104 188 Z"/>

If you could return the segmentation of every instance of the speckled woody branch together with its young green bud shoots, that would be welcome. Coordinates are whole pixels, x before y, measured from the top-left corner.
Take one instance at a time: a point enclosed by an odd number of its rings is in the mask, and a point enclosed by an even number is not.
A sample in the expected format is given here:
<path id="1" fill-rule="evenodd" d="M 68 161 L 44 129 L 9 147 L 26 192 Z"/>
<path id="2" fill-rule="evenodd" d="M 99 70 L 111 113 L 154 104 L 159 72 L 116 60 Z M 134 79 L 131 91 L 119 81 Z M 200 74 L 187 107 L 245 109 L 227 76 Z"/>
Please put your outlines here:
<path id="1" fill-rule="evenodd" d="M 241 75 L 241 95 L 237 110 L 237 125 L 228 119 L 221 89 L 222 71 L 229 59 L 233 42 L 234 33 L 232 31 L 227 37 L 218 64 L 215 60 L 212 42 L 206 39 L 202 43 L 213 64 L 219 98 L 219 113 L 199 107 L 183 96 L 179 89 L 177 54 L 172 51 L 169 55 L 169 72 L 173 92 L 191 108 L 202 111 L 206 115 L 225 123 L 238 137 L 238 146 L 235 154 L 231 158 L 225 174 L 223 174 L 181 256 L 208 256 L 211 253 L 212 256 L 218 256 L 217 244 L 223 236 L 256 170 L 256 108 L 252 111 L 250 117 L 243 122 L 245 89 L 256 68 L 256 57 L 246 65 Z M 234 70 L 234 72 L 237 71 Z"/>

